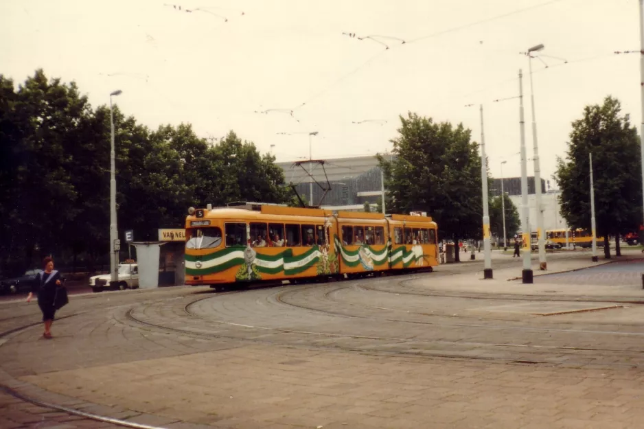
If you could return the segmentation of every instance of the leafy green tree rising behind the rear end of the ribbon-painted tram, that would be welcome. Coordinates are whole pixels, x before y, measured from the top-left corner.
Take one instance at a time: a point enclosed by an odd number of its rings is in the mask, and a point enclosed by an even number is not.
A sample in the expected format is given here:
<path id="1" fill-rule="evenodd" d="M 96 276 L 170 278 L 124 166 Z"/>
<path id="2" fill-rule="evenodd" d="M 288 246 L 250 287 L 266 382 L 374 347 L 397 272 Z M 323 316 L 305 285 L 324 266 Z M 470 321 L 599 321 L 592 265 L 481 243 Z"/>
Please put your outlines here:
<path id="1" fill-rule="evenodd" d="M 455 242 L 482 236 L 481 157 L 463 124 L 409 113 L 392 139 L 392 161 L 379 156 L 389 213 L 426 211 L 439 235 Z"/>

